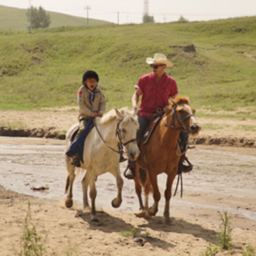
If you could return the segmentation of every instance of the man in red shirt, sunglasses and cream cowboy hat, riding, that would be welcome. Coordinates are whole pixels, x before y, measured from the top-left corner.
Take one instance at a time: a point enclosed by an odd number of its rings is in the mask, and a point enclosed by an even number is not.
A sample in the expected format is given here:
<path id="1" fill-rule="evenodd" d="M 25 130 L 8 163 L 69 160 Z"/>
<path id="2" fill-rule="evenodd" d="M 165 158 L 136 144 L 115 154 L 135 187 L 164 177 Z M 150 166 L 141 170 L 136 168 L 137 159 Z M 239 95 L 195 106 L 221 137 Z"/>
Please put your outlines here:
<path id="1" fill-rule="evenodd" d="M 139 98 L 142 96 L 138 116 L 140 135 L 144 134 L 150 123 L 148 116 L 156 114 L 158 108 L 163 111 L 163 108 L 169 104 L 169 98 L 175 98 L 179 93 L 175 79 L 165 74 L 165 68 L 173 66 L 165 55 L 156 53 L 154 58 L 146 58 L 146 63 L 150 64 L 153 72 L 140 77 L 131 98 L 133 108 L 137 108 Z M 135 170 L 131 163 L 129 165 L 129 169 L 125 171 L 125 177 L 133 179 Z M 186 165 L 186 167 L 192 169 L 192 165 Z"/>

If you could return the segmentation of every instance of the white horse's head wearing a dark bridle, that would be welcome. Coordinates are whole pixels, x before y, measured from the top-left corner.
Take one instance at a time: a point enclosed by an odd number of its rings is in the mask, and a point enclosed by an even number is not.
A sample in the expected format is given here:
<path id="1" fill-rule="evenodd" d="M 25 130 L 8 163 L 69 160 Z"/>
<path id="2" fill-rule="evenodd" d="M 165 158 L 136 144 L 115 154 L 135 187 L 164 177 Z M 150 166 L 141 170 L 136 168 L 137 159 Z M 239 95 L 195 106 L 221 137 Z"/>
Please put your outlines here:
<path id="1" fill-rule="evenodd" d="M 123 147 L 124 153 L 129 160 L 135 161 L 139 157 L 140 150 L 137 145 L 137 131 L 139 124 L 135 119 L 135 114 L 130 114 L 125 110 L 116 110 L 119 119 L 116 135 L 119 143 Z"/>

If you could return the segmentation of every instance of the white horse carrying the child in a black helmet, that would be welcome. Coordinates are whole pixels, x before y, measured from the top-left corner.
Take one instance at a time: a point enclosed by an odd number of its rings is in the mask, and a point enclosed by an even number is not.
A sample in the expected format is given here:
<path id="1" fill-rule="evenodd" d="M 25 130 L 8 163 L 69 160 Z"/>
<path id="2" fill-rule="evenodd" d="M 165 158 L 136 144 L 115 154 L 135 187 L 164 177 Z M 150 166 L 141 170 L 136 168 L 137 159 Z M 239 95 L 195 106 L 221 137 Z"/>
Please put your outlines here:
<path id="1" fill-rule="evenodd" d="M 117 198 L 112 200 L 112 206 L 119 207 L 122 201 L 121 190 L 123 188 L 123 179 L 119 169 L 119 148 L 123 149 L 123 153 L 129 160 L 137 160 L 140 154 L 136 141 L 139 125 L 135 119 L 135 113 L 131 114 L 125 109 L 120 111 L 117 109 L 110 110 L 103 117 L 96 117 L 95 123 L 96 126 L 93 127 L 85 139 L 83 163 L 81 162 L 81 168 L 87 170 L 82 181 L 83 207 L 89 209 L 87 188 L 90 186 L 91 221 L 98 221 L 95 209 L 95 178 L 106 172 L 110 172 L 116 177 L 118 192 Z M 68 135 L 70 135 L 74 126 L 66 134 L 66 150 L 70 147 L 71 141 L 68 139 Z M 68 196 L 65 204 L 68 208 L 73 205 L 72 188 L 75 180 L 75 170 L 77 169 L 71 162 L 72 159 L 66 156 L 68 177 L 65 194 L 68 193 Z"/>

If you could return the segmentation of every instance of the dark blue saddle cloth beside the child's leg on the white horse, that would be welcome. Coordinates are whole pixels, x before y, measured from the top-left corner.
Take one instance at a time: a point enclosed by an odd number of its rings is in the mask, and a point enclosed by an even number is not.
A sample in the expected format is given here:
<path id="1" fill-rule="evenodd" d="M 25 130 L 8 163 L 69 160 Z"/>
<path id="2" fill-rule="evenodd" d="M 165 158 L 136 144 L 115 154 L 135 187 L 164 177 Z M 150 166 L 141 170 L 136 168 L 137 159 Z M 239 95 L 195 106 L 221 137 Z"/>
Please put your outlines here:
<path id="1" fill-rule="evenodd" d="M 70 145 L 70 148 L 66 152 L 67 156 L 72 157 L 78 154 L 80 160 L 83 162 L 83 146 L 85 144 L 85 138 L 87 137 L 89 133 L 89 129 L 92 124 L 93 124 L 93 117 L 89 119 L 87 127 L 85 128 L 85 131 Z"/>

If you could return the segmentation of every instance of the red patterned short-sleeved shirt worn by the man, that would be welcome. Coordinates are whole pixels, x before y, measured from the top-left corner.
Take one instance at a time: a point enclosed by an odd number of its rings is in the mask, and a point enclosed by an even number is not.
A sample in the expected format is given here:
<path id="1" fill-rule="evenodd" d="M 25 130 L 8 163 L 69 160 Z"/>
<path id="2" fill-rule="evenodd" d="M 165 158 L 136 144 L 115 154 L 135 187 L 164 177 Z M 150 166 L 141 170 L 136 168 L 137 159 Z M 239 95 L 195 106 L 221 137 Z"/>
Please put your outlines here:
<path id="1" fill-rule="evenodd" d="M 164 74 L 159 82 L 154 73 L 143 75 L 135 85 L 135 89 L 137 88 L 142 91 L 139 109 L 140 116 L 144 118 L 156 113 L 158 108 L 167 106 L 169 98 L 179 93 L 175 79 L 167 74 Z"/>

